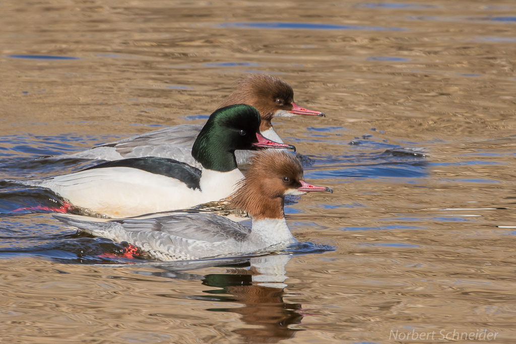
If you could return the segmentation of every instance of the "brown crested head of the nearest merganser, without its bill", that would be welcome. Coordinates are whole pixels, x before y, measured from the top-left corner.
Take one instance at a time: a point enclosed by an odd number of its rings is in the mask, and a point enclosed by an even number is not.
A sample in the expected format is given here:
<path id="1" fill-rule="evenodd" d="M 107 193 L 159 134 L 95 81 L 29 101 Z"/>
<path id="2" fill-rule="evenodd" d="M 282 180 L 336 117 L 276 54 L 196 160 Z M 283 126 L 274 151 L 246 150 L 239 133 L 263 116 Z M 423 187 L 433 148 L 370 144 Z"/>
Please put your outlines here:
<path id="1" fill-rule="evenodd" d="M 285 194 L 302 186 L 303 167 L 293 155 L 266 150 L 251 157 L 251 167 L 231 196 L 232 207 L 245 210 L 253 219 L 284 217 Z"/>

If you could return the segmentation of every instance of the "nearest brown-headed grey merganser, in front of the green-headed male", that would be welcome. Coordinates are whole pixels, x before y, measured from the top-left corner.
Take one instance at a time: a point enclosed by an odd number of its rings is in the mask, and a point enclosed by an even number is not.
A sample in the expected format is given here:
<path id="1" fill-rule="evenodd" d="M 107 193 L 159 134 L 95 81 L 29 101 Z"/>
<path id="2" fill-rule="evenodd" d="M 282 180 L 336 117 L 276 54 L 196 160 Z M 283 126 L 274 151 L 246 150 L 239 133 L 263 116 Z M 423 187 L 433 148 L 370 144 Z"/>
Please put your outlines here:
<path id="1" fill-rule="evenodd" d="M 159 260 L 200 259 L 279 249 L 295 243 L 285 222 L 285 195 L 310 191 L 332 192 L 304 182 L 301 163 L 291 154 L 265 151 L 251 157 L 247 177 L 231 198 L 235 207 L 251 214 L 251 228 L 214 214 L 108 222 L 55 217 L 94 236 L 132 243 Z"/>

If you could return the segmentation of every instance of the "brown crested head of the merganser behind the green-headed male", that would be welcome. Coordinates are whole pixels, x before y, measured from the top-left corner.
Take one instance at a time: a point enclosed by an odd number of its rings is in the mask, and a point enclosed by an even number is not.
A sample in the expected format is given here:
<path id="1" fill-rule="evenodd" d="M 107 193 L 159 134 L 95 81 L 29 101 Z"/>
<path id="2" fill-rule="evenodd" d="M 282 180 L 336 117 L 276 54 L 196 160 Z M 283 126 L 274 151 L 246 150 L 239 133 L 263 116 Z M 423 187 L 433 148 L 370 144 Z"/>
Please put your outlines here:
<path id="1" fill-rule="evenodd" d="M 272 127 L 270 121 L 279 110 L 294 108 L 294 90 L 285 81 L 271 75 L 254 73 L 235 82 L 235 90 L 219 105 L 219 108 L 234 104 L 247 104 L 260 111 L 260 131 Z"/>

